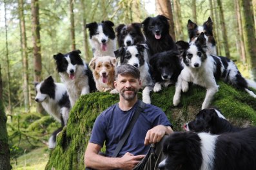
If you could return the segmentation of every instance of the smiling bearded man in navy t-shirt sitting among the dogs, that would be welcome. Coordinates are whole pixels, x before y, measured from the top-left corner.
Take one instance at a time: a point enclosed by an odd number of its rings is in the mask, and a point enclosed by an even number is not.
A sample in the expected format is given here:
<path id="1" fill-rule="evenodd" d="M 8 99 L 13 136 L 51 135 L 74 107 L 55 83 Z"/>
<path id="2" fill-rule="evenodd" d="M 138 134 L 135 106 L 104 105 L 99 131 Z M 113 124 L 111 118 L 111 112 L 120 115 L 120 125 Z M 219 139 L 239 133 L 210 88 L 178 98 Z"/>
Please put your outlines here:
<path id="1" fill-rule="evenodd" d="M 119 92 L 119 103 L 97 117 L 84 154 L 86 167 L 133 169 L 145 157 L 150 144 L 173 132 L 164 112 L 157 106 L 147 104 L 119 155 L 111 157 L 138 104 L 137 92 L 141 88 L 139 75 L 139 70 L 133 65 L 124 64 L 116 68 L 114 85 Z M 106 157 L 98 154 L 103 144 L 106 145 Z"/>

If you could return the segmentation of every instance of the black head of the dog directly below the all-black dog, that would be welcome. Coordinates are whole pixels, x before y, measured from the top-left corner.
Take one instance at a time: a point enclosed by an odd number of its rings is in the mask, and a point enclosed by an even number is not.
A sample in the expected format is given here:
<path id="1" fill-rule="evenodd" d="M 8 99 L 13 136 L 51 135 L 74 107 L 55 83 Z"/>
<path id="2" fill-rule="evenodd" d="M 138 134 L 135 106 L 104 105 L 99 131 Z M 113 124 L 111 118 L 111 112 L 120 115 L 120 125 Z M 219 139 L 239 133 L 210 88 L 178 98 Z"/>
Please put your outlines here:
<path id="1" fill-rule="evenodd" d="M 175 50 L 156 53 L 150 59 L 152 72 L 156 76 L 161 76 L 162 80 L 177 80 L 181 72 L 179 53 Z"/>

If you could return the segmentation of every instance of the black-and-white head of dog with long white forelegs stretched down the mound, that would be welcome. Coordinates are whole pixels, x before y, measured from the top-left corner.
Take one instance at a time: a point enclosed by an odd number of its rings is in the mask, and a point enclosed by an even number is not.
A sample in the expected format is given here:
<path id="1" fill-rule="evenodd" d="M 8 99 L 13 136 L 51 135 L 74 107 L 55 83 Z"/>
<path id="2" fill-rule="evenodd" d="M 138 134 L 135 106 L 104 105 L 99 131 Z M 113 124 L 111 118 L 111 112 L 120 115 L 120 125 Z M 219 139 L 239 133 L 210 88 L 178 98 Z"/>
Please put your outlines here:
<path id="1" fill-rule="evenodd" d="M 206 53 L 208 51 L 204 33 L 201 33 L 194 43 L 188 44 L 188 42 L 178 41 L 176 45 L 182 57 L 182 61 L 188 67 L 199 69 L 207 58 Z"/>

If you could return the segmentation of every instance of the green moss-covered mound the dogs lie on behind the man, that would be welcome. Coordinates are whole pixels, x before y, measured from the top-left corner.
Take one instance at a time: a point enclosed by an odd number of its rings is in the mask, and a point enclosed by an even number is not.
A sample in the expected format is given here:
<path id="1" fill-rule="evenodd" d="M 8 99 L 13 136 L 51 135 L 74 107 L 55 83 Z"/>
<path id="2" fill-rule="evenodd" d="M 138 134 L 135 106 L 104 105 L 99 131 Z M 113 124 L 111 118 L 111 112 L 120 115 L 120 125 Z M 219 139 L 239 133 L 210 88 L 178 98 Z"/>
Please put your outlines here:
<path id="1" fill-rule="evenodd" d="M 256 124 L 256 99 L 244 91 L 236 90 L 219 82 L 219 92 L 215 94 L 212 106 L 239 126 Z M 159 106 L 173 123 L 173 130 L 181 131 L 182 124 L 190 121 L 201 109 L 206 90 L 193 85 L 182 94 L 181 103 L 172 104 L 175 87 L 168 87 L 159 93 L 152 93 L 152 104 Z M 139 94 L 141 98 L 141 94 Z M 68 126 L 57 137 L 57 147 L 50 152 L 46 169 L 84 169 L 84 150 L 90 137 L 94 121 L 104 109 L 117 103 L 119 96 L 108 92 L 95 92 L 81 96 L 72 111 Z"/>

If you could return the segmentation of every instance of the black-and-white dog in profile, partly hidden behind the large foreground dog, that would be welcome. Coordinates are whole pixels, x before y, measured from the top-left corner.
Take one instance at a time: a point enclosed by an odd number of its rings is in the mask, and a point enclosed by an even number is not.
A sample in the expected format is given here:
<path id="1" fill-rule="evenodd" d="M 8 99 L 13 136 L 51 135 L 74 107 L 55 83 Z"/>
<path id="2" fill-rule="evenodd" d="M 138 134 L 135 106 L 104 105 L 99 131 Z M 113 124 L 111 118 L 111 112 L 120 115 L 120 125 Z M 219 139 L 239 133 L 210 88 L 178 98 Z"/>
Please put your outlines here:
<path id="1" fill-rule="evenodd" d="M 205 108 L 195 115 L 195 120 L 184 124 L 184 129 L 192 132 L 220 134 L 226 132 L 239 132 L 246 128 L 233 126 L 226 120 L 221 111 L 216 108 Z"/>

